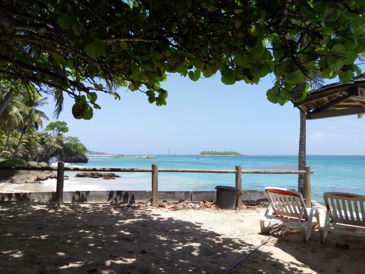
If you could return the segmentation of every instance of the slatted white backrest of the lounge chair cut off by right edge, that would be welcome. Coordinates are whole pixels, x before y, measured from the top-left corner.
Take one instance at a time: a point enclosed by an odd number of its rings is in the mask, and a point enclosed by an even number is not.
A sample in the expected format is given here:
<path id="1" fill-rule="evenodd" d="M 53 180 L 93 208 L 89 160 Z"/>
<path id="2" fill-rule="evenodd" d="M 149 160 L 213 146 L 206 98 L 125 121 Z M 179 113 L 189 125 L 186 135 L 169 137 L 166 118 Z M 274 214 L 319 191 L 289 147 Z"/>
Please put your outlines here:
<path id="1" fill-rule="evenodd" d="M 352 193 L 325 192 L 323 193 L 323 200 L 333 221 L 365 226 L 365 196 Z"/>

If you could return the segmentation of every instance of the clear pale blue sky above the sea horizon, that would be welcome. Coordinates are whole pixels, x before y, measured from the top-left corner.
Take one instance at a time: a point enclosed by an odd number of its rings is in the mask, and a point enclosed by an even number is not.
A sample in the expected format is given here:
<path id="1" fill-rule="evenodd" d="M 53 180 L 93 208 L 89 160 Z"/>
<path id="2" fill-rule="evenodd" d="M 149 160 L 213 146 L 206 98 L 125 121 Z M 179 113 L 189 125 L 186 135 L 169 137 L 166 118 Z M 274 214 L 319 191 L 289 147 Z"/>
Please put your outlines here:
<path id="1" fill-rule="evenodd" d="M 244 155 L 297 155 L 299 110 L 291 102 L 270 103 L 266 76 L 258 85 L 243 81 L 225 85 L 219 73 L 193 82 L 168 75 L 166 106 L 147 101 L 139 91 L 119 90 L 121 100 L 98 92 L 91 120 L 74 119 L 74 100 L 65 96 L 59 121 L 93 151 L 110 154 L 197 154 L 203 150 L 237 151 Z M 334 79 L 331 82 L 338 81 Z M 330 83 L 330 82 L 328 82 Z M 51 118 L 54 102 L 42 108 Z M 47 122 L 45 122 L 47 125 Z M 45 128 L 45 127 L 44 127 Z M 365 117 L 357 115 L 307 121 L 307 155 L 365 155 Z"/>

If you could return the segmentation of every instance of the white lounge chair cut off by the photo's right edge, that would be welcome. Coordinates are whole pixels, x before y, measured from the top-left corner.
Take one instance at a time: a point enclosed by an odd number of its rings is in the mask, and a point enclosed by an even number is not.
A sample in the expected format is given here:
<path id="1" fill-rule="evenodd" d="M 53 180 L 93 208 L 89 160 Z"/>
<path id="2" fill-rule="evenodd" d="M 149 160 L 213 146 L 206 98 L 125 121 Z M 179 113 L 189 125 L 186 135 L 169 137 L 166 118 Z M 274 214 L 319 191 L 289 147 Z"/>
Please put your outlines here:
<path id="1" fill-rule="evenodd" d="M 341 193 L 323 193 L 326 204 L 324 226 L 319 227 L 321 243 L 326 241 L 328 231 L 365 237 L 365 196 Z"/>

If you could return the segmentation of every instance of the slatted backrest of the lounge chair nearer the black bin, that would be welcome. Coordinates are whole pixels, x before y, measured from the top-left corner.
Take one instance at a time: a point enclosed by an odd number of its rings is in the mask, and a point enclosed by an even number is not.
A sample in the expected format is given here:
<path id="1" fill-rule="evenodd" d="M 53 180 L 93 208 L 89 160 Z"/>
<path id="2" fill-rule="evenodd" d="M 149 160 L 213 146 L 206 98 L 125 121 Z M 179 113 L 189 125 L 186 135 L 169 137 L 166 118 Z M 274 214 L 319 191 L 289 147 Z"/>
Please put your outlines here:
<path id="1" fill-rule="evenodd" d="M 307 208 L 300 192 L 280 187 L 266 187 L 265 192 L 275 214 L 296 217 L 298 220 L 308 217 Z"/>

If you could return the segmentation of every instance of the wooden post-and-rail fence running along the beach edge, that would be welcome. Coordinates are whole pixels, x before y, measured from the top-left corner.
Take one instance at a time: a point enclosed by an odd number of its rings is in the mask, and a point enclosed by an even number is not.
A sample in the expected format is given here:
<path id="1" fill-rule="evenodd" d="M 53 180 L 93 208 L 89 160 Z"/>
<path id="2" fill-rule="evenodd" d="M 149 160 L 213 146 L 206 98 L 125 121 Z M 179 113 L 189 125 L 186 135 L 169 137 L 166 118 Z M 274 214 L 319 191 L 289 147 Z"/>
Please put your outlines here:
<path id="1" fill-rule="evenodd" d="M 242 174 L 304 174 L 304 197 L 306 206 L 311 207 L 311 171 L 310 167 L 304 170 L 242 170 L 241 165 L 236 165 L 235 170 L 197 170 L 158 168 L 153 164 L 152 168 L 90 168 L 90 167 L 65 167 L 65 163 L 59 162 L 57 167 L 0 167 L 0 170 L 48 170 L 57 171 L 56 203 L 63 204 L 64 172 L 65 171 L 97 171 L 97 172 L 151 172 L 152 173 L 152 196 L 151 205 L 158 205 L 158 172 L 192 172 L 192 173 L 235 173 L 236 187 L 239 190 L 236 206 L 239 207 L 242 199 Z"/>

